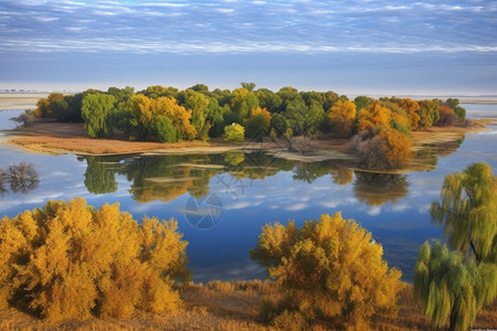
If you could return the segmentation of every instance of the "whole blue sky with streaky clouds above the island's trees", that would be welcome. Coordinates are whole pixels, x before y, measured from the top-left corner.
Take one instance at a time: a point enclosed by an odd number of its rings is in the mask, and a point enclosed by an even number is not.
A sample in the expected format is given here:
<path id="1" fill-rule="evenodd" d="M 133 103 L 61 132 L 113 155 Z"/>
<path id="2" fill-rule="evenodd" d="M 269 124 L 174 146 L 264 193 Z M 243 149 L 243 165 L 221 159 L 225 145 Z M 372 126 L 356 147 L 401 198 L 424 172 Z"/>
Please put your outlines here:
<path id="1" fill-rule="evenodd" d="M 0 88 L 497 95 L 497 1 L 0 0 Z"/>

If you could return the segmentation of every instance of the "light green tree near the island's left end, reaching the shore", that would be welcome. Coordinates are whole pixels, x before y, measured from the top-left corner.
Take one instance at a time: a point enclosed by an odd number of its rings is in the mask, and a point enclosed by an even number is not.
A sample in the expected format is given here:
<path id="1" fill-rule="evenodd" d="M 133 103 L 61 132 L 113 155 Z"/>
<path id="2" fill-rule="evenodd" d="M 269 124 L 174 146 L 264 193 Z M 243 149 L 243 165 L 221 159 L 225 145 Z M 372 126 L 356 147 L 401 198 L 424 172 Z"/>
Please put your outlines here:
<path id="1" fill-rule="evenodd" d="M 88 94 L 82 100 L 81 114 L 92 138 L 113 136 L 112 114 L 116 98 L 105 94 Z"/>

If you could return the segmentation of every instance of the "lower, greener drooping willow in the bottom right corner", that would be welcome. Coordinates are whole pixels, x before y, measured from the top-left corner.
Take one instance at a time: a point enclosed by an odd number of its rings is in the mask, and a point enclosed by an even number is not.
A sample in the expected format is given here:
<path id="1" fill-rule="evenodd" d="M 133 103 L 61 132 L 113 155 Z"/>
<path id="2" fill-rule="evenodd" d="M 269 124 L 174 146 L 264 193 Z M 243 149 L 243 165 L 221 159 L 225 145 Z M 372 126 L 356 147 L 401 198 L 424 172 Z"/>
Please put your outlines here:
<path id="1" fill-rule="evenodd" d="M 477 265 L 461 252 L 426 242 L 417 257 L 414 291 L 435 328 L 448 323 L 448 330 L 468 330 L 497 295 L 497 266 Z"/>

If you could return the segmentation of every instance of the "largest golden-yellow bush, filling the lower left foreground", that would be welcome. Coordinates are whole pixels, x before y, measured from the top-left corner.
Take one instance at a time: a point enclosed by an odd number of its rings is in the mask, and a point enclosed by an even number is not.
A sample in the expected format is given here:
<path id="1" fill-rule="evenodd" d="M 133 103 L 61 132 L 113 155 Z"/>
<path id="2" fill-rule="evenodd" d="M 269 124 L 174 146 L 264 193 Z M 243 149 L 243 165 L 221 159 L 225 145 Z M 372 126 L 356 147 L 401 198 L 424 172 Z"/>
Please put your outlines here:
<path id="1" fill-rule="evenodd" d="M 49 320 L 127 318 L 180 303 L 187 242 L 177 222 L 137 224 L 119 205 L 95 211 L 82 197 L 50 201 L 0 223 L 0 307 Z"/>

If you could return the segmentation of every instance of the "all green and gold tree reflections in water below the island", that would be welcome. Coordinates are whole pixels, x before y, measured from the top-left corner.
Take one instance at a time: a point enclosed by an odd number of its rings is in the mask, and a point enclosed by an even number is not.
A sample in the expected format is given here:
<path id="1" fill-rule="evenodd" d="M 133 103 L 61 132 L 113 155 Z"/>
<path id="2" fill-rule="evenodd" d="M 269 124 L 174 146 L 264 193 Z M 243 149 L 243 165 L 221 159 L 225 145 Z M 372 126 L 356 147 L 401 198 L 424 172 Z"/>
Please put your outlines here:
<path id="1" fill-rule="evenodd" d="M 413 167 L 434 169 L 437 156 L 455 151 L 462 141 L 425 146 L 416 152 Z M 231 192 L 234 185 L 246 185 L 241 182 L 243 179 L 265 179 L 279 171 L 293 171 L 293 180 L 305 183 L 313 183 L 326 174 L 330 174 L 334 183 L 339 185 L 353 181 L 350 161 L 288 161 L 262 150 L 222 154 L 80 157 L 78 160 L 86 160 L 84 183 L 88 192 L 116 192 L 116 174 L 123 174 L 131 182 L 133 199 L 140 203 L 155 200 L 168 202 L 186 193 L 194 199 L 205 196 L 214 175 L 218 175 L 216 183 L 223 184 L 226 192 Z M 382 205 L 405 197 L 408 188 L 405 175 L 357 171 L 353 192 L 360 202 Z"/>

